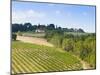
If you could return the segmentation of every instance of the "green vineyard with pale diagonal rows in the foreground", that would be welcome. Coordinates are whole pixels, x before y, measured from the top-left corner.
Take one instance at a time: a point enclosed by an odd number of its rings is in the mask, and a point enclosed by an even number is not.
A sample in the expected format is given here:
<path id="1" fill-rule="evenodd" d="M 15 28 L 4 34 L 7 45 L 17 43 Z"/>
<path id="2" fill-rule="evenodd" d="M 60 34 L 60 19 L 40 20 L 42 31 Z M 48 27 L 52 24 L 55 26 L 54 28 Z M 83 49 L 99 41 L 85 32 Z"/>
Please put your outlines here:
<path id="1" fill-rule="evenodd" d="M 59 48 L 12 42 L 12 74 L 81 69 L 77 58 Z"/>

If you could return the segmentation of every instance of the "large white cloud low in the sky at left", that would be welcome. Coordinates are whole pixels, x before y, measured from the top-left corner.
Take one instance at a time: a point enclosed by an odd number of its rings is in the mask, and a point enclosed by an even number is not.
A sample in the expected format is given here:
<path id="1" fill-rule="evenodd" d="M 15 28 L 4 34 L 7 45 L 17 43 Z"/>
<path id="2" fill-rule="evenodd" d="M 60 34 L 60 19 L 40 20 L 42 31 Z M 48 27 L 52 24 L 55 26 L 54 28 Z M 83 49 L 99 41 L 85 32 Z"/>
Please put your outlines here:
<path id="1" fill-rule="evenodd" d="M 41 19 L 46 16 L 45 13 L 39 12 L 39 11 L 34 11 L 32 9 L 27 10 L 27 11 L 13 11 L 12 12 L 12 21 L 13 22 L 18 22 L 18 21 L 30 21 L 32 19 Z"/>

